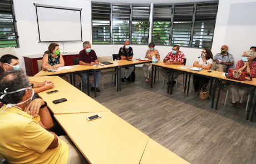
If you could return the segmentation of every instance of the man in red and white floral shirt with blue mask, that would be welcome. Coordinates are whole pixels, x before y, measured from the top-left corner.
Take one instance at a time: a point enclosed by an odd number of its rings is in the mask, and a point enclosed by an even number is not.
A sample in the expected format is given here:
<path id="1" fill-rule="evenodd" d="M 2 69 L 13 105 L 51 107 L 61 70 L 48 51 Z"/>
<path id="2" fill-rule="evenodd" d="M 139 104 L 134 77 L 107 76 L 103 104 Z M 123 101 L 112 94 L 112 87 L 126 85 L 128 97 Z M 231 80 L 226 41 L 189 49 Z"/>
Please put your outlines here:
<path id="1" fill-rule="evenodd" d="M 164 63 L 169 65 L 169 64 L 183 64 L 184 62 L 185 55 L 183 52 L 180 51 L 180 46 L 179 45 L 174 45 L 173 50 L 169 52 L 166 57 L 164 58 Z M 161 69 L 161 73 L 163 76 L 168 79 L 169 78 L 169 69 Z M 174 71 L 173 74 L 173 79 L 176 79 L 180 71 Z M 173 81 L 173 86 L 175 85 L 175 81 Z M 169 83 L 170 84 L 170 83 Z"/>

